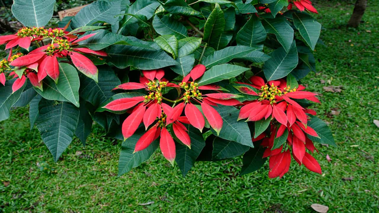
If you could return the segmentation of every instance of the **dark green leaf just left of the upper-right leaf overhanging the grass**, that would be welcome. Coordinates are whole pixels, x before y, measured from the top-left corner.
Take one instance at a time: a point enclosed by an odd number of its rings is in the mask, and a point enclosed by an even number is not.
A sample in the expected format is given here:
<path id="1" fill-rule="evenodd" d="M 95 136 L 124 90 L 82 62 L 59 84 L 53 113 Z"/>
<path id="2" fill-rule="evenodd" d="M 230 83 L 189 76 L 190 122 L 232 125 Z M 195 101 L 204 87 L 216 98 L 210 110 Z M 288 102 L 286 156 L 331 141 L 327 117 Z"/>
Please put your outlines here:
<path id="1" fill-rule="evenodd" d="M 274 34 L 285 51 L 288 52 L 293 43 L 294 31 L 287 23 L 287 19 L 281 16 L 278 16 L 275 19 L 262 19 L 262 24 L 263 27 L 265 27 L 266 32 Z"/>

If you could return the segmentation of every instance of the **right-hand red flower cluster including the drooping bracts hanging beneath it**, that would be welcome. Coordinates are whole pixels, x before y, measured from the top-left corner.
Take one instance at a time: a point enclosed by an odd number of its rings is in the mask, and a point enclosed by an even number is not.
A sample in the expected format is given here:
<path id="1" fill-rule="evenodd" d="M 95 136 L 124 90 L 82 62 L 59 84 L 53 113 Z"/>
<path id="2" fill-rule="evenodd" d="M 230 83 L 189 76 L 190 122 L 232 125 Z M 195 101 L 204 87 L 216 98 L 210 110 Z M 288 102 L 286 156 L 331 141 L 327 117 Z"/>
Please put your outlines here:
<path id="1" fill-rule="evenodd" d="M 269 177 L 282 177 L 288 171 L 291 162 L 290 147 L 292 147 L 292 156 L 299 165 L 304 164 L 309 170 L 321 173 L 317 161 L 305 152 L 305 148 L 311 152 L 315 150 L 313 142 L 306 135 L 318 137 L 315 130 L 307 126 L 306 113 L 313 115 L 316 113 L 292 100 L 307 99 L 319 102 L 315 97 L 316 94 L 302 91 L 305 89 L 302 85 L 290 88 L 283 79 L 265 83 L 263 78 L 253 76 L 250 81 L 252 84 L 240 83 L 235 86 L 244 94 L 257 96 L 256 100 L 244 102 L 238 119 L 247 119 L 247 121 L 271 119 L 271 135 L 266 137 L 266 134 L 262 133 L 253 138 L 253 141 L 263 139 L 261 145 L 267 147 L 263 157 L 270 157 Z M 283 136 L 285 138 L 281 138 Z"/>

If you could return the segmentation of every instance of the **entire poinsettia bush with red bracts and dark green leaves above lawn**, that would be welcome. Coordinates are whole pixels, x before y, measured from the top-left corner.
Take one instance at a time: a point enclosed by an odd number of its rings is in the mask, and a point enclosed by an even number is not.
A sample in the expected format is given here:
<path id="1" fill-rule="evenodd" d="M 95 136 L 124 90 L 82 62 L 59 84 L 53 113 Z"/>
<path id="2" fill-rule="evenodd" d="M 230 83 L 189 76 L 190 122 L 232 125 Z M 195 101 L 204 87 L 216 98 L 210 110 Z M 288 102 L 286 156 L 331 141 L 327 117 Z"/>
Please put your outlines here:
<path id="1" fill-rule="evenodd" d="M 54 4 L 14 0 L 25 27 L 0 36 L 0 121 L 29 105 L 55 161 L 96 122 L 123 140 L 119 175 L 158 147 L 183 175 L 240 155 L 241 174 L 266 159 L 270 178 L 291 159 L 321 174 L 314 143 L 335 143 L 299 84 L 321 42 L 311 1 L 98 0 L 45 27 Z"/>

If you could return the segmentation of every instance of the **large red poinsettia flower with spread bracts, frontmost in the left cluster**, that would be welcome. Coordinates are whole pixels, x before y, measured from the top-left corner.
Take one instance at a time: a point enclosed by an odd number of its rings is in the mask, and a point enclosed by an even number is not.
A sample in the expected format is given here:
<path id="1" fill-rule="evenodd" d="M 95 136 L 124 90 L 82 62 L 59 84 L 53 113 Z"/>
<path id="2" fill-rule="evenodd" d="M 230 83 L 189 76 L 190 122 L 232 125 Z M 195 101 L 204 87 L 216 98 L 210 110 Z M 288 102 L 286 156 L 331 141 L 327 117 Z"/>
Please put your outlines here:
<path id="1" fill-rule="evenodd" d="M 75 46 L 78 45 L 77 42 L 88 39 L 94 35 L 95 33 L 88 34 L 78 39 L 56 38 L 53 44 L 39 47 L 31 51 L 28 55 L 17 58 L 17 60 L 14 60 L 10 65 L 33 67 L 32 69 L 38 70 L 38 81 L 42 81 L 49 75 L 55 82 L 58 82 L 59 66 L 57 58 L 70 56 L 72 63 L 80 72 L 97 81 L 97 67 L 91 60 L 80 53 L 89 53 L 99 56 L 106 56 L 106 53 L 103 51 L 90 50 L 88 48 L 75 48 Z"/>

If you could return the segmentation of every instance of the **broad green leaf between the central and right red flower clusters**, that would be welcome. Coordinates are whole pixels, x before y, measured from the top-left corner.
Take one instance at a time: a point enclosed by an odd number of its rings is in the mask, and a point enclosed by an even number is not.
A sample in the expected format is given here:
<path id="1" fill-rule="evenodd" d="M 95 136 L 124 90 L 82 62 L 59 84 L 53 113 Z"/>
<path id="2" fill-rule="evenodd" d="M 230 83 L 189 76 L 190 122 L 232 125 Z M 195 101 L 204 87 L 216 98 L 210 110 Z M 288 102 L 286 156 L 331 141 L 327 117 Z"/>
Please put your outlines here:
<path id="1" fill-rule="evenodd" d="M 221 106 L 215 108 L 222 117 L 222 128 L 219 137 L 229 141 L 235 141 L 239 144 L 254 147 L 251 141 L 251 134 L 246 122 L 237 121 L 240 110 L 231 106 Z M 211 129 L 213 135 L 217 135 L 215 130 Z"/>

